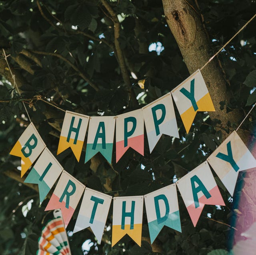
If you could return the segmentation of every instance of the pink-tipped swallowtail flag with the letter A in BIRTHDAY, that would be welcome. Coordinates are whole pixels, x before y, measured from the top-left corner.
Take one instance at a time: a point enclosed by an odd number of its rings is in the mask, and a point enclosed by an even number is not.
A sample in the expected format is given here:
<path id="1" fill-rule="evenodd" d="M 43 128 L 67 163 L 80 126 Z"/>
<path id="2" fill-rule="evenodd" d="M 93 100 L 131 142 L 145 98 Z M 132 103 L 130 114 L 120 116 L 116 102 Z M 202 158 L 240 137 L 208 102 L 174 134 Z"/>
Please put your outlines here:
<path id="1" fill-rule="evenodd" d="M 183 176 L 176 184 L 194 227 L 205 204 L 225 206 L 207 161 Z"/>

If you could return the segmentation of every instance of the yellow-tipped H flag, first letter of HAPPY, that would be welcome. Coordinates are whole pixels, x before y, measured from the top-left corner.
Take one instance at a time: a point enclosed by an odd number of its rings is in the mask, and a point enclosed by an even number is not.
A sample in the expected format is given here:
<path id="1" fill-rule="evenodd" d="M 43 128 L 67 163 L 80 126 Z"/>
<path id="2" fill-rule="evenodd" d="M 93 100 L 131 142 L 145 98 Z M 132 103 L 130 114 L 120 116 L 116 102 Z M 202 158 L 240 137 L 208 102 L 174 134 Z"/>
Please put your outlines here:
<path id="1" fill-rule="evenodd" d="M 86 115 L 66 111 L 57 155 L 70 147 L 77 161 L 80 160 L 89 118 Z"/>

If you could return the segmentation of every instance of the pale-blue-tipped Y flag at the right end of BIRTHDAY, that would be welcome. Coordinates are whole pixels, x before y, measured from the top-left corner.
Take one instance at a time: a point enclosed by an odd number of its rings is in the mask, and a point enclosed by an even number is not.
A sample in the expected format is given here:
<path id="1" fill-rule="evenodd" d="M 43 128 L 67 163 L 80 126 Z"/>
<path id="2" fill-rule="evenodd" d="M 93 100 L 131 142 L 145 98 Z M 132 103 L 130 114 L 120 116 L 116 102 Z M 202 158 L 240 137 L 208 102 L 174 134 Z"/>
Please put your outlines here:
<path id="1" fill-rule="evenodd" d="M 232 132 L 207 158 L 228 192 L 233 196 L 238 172 L 256 167 L 256 160 L 242 139 Z"/>

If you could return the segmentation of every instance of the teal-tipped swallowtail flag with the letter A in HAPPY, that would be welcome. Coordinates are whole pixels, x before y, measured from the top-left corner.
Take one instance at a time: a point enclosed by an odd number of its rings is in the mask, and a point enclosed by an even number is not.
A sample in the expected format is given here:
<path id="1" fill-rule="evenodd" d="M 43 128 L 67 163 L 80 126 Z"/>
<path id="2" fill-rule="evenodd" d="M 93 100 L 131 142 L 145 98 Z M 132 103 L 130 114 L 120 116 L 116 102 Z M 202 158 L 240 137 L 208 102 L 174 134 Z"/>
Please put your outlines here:
<path id="1" fill-rule="evenodd" d="M 84 163 L 100 152 L 111 164 L 115 122 L 113 116 L 90 117 Z"/>

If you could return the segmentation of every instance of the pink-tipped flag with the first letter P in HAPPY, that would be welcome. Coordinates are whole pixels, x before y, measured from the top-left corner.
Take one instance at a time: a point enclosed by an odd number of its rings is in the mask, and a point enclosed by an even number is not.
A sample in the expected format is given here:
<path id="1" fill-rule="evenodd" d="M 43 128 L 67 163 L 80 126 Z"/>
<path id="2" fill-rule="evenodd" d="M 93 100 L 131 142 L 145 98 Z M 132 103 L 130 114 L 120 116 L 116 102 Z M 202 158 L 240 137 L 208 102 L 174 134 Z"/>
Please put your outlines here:
<path id="1" fill-rule="evenodd" d="M 116 116 L 116 162 L 130 147 L 144 156 L 142 109 Z"/>

